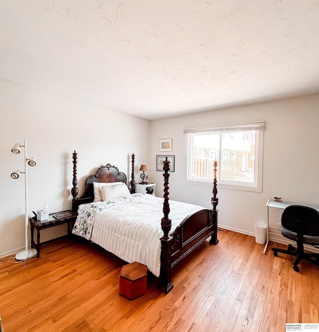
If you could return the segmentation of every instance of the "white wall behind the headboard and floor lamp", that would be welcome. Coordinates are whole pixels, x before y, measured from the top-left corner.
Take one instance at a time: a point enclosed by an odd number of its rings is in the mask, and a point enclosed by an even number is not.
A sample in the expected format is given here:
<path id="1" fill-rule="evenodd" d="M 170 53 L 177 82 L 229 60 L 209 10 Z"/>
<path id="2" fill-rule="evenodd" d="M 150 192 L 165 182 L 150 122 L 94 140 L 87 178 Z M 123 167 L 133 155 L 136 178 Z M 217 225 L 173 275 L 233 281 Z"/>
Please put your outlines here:
<path id="1" fill-rule="evenodd" d="M 0 257 L 23 249 L 23 153 L 13 155 L 15 143 L 27 139 L 27 157 L 37 158 L 28 167 L 29 216 L 47 202 L 50 212 L 71 208 L 72 153 L 78 153 L 78 187 L 85 177 L 110 163 L 131 176 L 130 155 L 148 164 L 150 121 L 121 112 L 64 98 L 10 81 L 0 81 Z M 41 231 L 45 241 L 66 233 L 66 225 Z M 29 237 L 30 239 L 30 237 Z"/>

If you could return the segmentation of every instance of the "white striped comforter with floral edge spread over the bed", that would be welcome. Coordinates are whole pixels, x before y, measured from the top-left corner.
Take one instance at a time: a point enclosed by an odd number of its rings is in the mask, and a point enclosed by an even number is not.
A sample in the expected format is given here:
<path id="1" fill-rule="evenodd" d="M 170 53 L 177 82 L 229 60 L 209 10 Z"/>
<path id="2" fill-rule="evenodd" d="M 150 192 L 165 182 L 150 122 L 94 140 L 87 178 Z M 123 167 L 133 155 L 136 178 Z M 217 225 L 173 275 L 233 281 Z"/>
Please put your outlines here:
<path id="1" fill-rule="evenodd" d="M 190 213 L 204 207 L 169 200 L 174 229 Z M 160 276 L 163 198 L 136 193 L 106 202 L 80 205 L 72 233 L 97 243 L 128 263 L 147 265 Z"/>

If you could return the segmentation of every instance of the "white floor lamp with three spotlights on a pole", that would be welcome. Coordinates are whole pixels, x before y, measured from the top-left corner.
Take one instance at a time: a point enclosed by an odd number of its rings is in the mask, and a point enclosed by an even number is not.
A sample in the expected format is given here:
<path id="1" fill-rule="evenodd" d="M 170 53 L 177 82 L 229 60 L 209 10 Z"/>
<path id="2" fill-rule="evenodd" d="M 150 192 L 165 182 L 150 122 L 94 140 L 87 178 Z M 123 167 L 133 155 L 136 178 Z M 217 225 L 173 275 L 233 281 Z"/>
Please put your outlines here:
<path id="1" fill-rule="evenodd" d="M 35 166 L 36 159 L 34 157 L 28 159 L 26 157 L 26 139 L 24 139 L 24 145 L 19 145 L 16 143 L 11 149 L 13 154 L 19 154 L 21 152 L 20 148 L 24 148 L 24 172 L 16 170 L 11 173 L 12 178 L 19 178 L 20 174 L 24 173 L 24 189 L 25 189 L 25 250 L 18 252 L 15 255 L 15 259 L 18 261 L 24 261 L 26 259 L 36 256 L 37 252 L 35 248 L 29 249 L 28 241 L 28 177 L 27 177 L 27 166 Z"/>

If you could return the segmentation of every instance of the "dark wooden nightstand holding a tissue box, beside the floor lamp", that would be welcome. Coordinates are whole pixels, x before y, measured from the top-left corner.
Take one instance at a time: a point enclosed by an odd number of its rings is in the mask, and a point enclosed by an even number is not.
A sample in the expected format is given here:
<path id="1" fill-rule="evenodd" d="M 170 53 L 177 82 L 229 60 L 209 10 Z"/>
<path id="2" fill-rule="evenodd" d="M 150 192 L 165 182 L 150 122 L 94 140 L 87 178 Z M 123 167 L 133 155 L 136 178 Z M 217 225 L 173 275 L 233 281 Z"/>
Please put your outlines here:
<path id="1" fill-rule="evenodd" d="M 62 225 L 68 223 L 68 235 L 71 235 L 71 230 L 73 227 L 73 224 L 75 222 L 75 219 L 77 217 L 77 214 L 72 212 L 71 210 L 66 211 L 60 211 L 55 213 L 49 214 L 49 219 L 44 221 L 39 221 L 36 219 L 36 217 L 30 218 L 30 225 L 31 225 L 31 247 L 36 248 L 37 257 L 40 257 L 40 230 L 44 228 L 50 228 L 57 225 Z M 33 231 L 34 228 L 36 229 L 36 238 L 37 243 L 33 240 Z M 56 239 L 54 239 L 56 240 Z M 51 241 L 51 240 L 50 240 Z M 47 241 L 49 242 L 49 241 Z M 45 243 L 45 242 L 43 242 Z M 43 244 L 42 243 L 42 244 Z"/>

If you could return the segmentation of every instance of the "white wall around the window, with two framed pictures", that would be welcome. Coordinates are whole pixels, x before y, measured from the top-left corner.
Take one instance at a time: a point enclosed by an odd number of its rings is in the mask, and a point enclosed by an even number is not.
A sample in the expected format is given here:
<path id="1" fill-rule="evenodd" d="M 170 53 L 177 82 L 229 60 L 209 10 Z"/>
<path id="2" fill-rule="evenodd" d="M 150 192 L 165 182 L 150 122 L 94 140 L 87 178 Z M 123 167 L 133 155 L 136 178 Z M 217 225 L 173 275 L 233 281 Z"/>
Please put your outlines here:
<path id="1" fill-rule="evenodd" d="M 183 130 L 265 120 L 263 190 L 218 189 L 219 224 L 253 235 L 256 221 L 267 222 L 265 204 L 281 196 L 288 202 L 319 206 L 319 94 L 273 102 L 229 107 L 152 121 L 151 177 L 162 195 L 162 172 L 156 171 L 159 139 L 172 138 L 175 172 L 170 173 L 169 197 L 211 207 L 212 186 L 185 183 L 186 141 Z M 151 167 L 150 167 L 151 168 Z"/>

